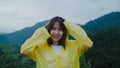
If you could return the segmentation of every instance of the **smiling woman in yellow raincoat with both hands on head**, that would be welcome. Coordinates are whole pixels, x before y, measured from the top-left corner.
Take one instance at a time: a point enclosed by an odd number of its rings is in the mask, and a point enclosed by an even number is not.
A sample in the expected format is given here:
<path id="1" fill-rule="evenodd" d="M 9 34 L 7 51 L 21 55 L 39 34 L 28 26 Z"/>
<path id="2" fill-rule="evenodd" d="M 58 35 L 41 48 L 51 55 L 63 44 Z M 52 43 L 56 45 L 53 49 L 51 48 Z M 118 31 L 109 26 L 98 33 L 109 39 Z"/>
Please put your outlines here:
<path id="1" fill-rule="evenodd" d="M 69 40 L 68 34 L 75 40 Z M 93 43 L 86 32 L 61 17 L 38 28 L 21 47 L 21 54 L 36 62 L 37 68 L 79 68 L 79 57 Z"/>

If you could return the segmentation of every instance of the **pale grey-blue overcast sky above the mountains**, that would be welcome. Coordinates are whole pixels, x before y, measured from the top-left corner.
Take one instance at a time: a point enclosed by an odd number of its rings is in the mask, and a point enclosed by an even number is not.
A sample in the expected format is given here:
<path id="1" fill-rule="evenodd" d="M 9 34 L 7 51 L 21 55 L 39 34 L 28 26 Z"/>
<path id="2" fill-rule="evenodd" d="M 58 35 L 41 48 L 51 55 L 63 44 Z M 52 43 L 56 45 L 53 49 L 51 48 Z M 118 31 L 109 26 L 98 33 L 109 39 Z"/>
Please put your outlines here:
<path id="1" fill-rule="evenodd" d="M 61 16 L 85 24 L 120 11 L 120 0 L 0 0 L 0 32 L 9 33 Z"/>

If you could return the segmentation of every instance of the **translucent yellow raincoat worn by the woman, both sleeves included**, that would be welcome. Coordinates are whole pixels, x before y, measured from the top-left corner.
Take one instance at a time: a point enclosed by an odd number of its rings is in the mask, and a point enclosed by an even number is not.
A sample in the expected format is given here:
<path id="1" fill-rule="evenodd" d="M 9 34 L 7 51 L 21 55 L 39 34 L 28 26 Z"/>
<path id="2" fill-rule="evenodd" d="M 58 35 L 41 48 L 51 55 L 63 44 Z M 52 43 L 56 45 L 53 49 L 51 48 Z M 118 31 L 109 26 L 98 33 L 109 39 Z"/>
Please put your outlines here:
<path id="1" fill-rule="evenodd" d="M 81 27 L 68 21 L 65 21 L 64 25 L 75 40 L 66 38 L 65 49 L 61 49 L 58 56 L 47 43 L 50 35 L 45 27 L 38 28 L 21 46 L 21 54 L 34 60 L 36 68 L 80 68 L 79 57 L 92 47 L 93 43 Z"/>

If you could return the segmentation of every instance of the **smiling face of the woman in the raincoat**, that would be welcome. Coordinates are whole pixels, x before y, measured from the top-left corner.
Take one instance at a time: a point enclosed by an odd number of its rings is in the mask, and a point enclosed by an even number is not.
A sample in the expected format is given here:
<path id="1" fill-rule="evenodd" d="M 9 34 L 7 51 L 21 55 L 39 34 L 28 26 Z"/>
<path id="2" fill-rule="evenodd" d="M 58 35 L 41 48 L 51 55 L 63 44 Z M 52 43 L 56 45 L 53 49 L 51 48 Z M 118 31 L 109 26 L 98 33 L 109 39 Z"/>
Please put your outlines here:
<path id="1" fill-rule="evenodd" d="M 56 22 L 51 31 L 51 39 L 53 40 L 53 43 L 59 43 L 59 40 L 62 38 L 63 36 L 63 31 L 60 29 L 60 25 L 58 22 Z"/>

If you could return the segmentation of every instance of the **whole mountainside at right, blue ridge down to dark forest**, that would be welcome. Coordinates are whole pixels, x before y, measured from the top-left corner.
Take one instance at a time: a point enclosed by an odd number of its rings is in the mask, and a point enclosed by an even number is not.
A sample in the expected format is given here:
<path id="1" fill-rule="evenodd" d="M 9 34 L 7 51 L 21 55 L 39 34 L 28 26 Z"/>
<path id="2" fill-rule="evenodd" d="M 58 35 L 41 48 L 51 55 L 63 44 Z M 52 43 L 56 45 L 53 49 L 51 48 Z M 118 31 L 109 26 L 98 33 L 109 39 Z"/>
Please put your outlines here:
<path id="1" fill-rule="evenodd" d="M 104 15 L 84 28 L 94 45 L 86 52 L 92 68 L 119 68 L 120 65 L 120 12 Z"/>

